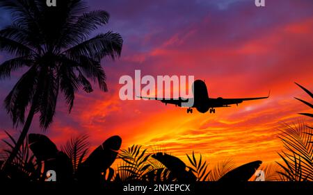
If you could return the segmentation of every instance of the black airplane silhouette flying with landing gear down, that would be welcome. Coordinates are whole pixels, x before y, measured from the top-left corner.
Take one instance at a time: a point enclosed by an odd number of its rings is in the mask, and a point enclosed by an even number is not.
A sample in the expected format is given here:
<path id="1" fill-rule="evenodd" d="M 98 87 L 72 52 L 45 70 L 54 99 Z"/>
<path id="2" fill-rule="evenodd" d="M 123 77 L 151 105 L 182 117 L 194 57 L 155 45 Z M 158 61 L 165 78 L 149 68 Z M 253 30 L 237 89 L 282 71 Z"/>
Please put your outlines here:
<path id="1" fill-rule="evenodd" d="M 152 97 L 145 97 L 145 96 L 138 96 L 141 99 L 154 99 L 159 100 L 162 103 L 165 103 L 166 105 L 168 103 L 178 105 L 179 107 L 182 107 L 182 103 L 187 103 L 188 99 L 183 99 L 182 97 L 179 97 L 178 99 L 156 99 Z M 193 105 L 188 107 L 187 113 L 193 113 L 193 108 L 196 108 L 198 112 L 205 113 L 209 110 L 210 113 L 215 113 L 215 108 L 221 108 L 221 107 L 230 107 L 232 104 L 236 104 L 238 106 L 239 103 L 242 103 L 243 101 L 250 101 L 250 100 L 256 100 L 256 99 L 267 99 L 268 96 L 264 97 L 255 97 L 255 98 L 239 98 L 239 99 L 223 99 L 221 97 L 218 97 L 216 99 L 209 98 L 209 94 L 207 92 L 207 85 L 205 85 L 203 80 L 195 80 L 193 82 Z"/>

